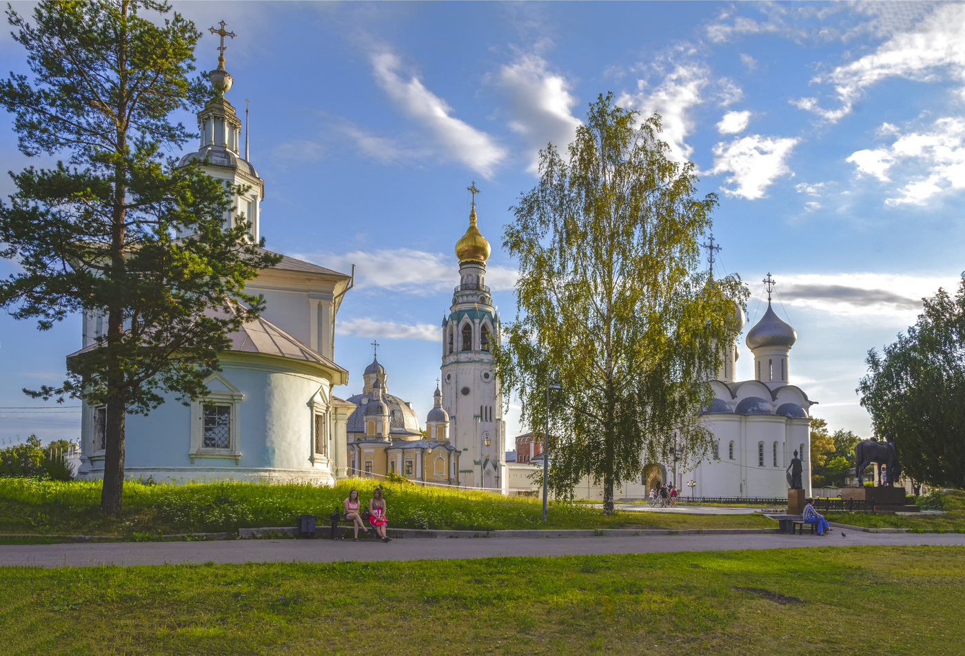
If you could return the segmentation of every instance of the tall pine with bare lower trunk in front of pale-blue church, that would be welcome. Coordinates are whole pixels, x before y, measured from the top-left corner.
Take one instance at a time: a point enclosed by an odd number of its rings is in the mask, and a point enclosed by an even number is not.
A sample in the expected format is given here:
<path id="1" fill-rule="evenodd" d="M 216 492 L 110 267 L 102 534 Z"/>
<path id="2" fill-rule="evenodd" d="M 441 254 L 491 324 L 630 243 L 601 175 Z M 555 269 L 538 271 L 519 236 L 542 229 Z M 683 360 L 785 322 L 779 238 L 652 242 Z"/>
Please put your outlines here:
<path id="1" fill-rule="evenodd" d="M 126 413 L 147 414 L 169 393 L 206 394 L 228 334 L 262 310 L 245 282 L 275 261 L 247 238 L 246 221 L 225 225 L 240 190 L 163 154 L 193 136 L 171 113 L 208 95 L 189 79 L 201 33 L 169 11 L 101 0 L 42 2 L 32 22 L 7 12 L 33 78 L 0 82 L 0 104 L 14 113 L 21 151 L 66 161 L 12 174 L 0 255 L 20 273 L 0 283 L 0 305 L 41 330 L 71 313 L 105 315 L 106 334 L 69 359 L 64 385 L 33 394 L 106 404 L 101 509 L 112 513 Z"/>

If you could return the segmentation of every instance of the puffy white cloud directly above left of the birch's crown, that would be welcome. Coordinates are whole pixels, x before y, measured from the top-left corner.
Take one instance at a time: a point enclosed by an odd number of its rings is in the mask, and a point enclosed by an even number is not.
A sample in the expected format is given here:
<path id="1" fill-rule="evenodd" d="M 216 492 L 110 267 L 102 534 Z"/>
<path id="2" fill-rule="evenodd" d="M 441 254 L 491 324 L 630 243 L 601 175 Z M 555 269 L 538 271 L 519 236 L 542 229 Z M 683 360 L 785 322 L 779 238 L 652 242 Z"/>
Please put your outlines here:
<path id="1" fill-rule="evenodd" d="M 539 150 L 552 142 L 560 150 L 573 140 L 580 120 L 571 108 L 577 99 L 569 81 L 549 70 L 544 59 L 523 54 L 500 68 L 494 77 L 510 99 L 510 129 L 521 135 L 530 150 L 530 173 L 538 171 Z"/>

